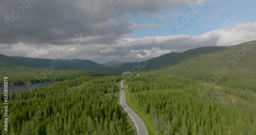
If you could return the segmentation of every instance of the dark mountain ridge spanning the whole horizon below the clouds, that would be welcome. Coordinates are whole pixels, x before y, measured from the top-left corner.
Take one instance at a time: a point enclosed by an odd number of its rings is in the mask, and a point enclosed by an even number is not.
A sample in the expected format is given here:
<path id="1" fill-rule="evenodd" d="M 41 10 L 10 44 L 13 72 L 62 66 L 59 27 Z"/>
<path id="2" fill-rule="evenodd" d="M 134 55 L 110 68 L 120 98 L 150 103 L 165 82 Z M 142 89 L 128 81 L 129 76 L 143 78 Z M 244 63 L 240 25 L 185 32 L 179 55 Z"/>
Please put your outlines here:
<path id="1" fill-rule="evenodd" d="M 151 58 L 142 62 L 119 62 L 119 61 L 109 61 L 103 64 L 96 63 L 92 60 L 81 60 L 81 59 L 57 59 L 59 64 L 58 70 L 112 70 L 112 71 L 127 71 L 134 70 L 135 72 L 140 71 L 151 71 L 163 69 L 169 66 L 179 64 L 180 62 L 197 58 L 201 55 L 212 54 L 217 52 L 223 52 L 228 54 L 229 51 L 236 52 L 236 48 L 241 48 L 243 44 L 253 43 L 256 41 L 249 41 L 234 46 L 225 47 L 200 47 L 195 49 L 190 49 L 182 53 L 172 52 L 169 54 L 164 54 L 159 57 Z M 219 55 L 219 53 L 217 53 Z M 226 55 L 224 55 L 226 57 Z M 217 56 L 212 56 L 217 57 Z M 223 57 L 224 58 L 224 57 Z M 219 58 L 220 59 L 220 58 Z M 42 68 L 43 66 L 51 65 L 52 59 L 44 58 L 28 58 L 19 56 L 5 56 L 0 54 L 0 66 L 4 67 L 19 67 L 27 66 L 31 68 Z M 199 62 L 199 61 L 197 61 Z M 200 61 L 203 62 L 203 61 Z M 120 65 L 118 65 L 120 64 Z M 191 63 L 193 65 L 193 63 Z"/>

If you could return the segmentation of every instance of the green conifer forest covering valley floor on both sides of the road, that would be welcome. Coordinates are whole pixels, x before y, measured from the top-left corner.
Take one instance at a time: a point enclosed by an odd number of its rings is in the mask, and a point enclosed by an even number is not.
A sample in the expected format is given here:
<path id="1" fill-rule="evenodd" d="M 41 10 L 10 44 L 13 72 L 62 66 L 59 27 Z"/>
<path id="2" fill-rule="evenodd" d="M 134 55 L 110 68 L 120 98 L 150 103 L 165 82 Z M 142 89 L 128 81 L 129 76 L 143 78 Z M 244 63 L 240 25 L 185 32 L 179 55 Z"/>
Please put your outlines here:
<path id="1" fill-rule="evenodd" d="M 119 105 L 123 79 L 132 101 L 128 105 L 146 116 L 150 134 L 256 134 L 253 91 L 158 72 L 78 73 L 49 87 L 11 93 L 10 130 L 3 130 L 1 108 L 1 134 L 134 134 L 133 122 Z M 60 78 L 61 72 L 51 76 Z M 3 104 L 4 95 L 0 98 Z"/>

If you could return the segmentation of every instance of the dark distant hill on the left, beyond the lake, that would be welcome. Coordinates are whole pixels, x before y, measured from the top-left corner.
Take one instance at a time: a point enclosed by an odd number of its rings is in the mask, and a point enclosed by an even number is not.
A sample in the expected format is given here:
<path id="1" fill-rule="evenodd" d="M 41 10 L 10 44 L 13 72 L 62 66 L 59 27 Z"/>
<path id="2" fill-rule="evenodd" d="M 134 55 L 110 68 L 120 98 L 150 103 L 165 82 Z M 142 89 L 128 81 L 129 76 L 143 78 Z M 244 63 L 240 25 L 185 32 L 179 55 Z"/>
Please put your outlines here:
<path id="1" fill-rule="evenodd" d="M 52 59 L 39 59 L 39 58 L 27 58 L 27 57 L 8 57 L 0 55 L 0 66 L 6 68 L 17 68 L 19 66 L 26 66 L 30 68 L 41 69 L 43 66 L 51 66 Z M 58 65 L 56 70 L 110 70 L 111 68 L 91 60 L 55 60 L 55 64 Z M 55 65 L 54 64 L 54 65 Z M 54 68 L 53 68 L 54 69 Z"/>

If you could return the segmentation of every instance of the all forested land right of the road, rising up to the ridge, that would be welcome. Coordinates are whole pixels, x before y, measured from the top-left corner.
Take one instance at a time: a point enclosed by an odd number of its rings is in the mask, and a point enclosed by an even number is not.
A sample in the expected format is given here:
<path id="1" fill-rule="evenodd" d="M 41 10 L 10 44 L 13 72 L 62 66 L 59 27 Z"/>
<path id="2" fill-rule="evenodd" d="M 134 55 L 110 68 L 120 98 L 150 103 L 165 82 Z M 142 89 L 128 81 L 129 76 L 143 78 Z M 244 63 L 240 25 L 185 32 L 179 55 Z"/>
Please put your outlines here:
<path id="1" fill-rule="evenodd" d="M 125 78 L 127 104 L 151 134 L 255 134 L 255 54 L 250 41 L 153 58 Z"/>

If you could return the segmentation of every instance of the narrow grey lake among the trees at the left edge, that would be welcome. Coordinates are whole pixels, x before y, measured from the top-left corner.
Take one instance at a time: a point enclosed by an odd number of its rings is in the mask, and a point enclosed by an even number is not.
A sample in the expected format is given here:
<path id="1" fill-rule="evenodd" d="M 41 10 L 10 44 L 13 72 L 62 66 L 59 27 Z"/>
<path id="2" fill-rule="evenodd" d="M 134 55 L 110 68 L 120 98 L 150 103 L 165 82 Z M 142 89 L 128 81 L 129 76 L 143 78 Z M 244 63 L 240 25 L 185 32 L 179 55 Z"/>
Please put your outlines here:
<path id="1" fill-rule="evenodd" d="M 39 87 L 48 87 L 52 85 L 53 82 L 47 82 L 47 83 L 37 83 L 37 84 L 29 84 L 29 85 L 18 85 L 18 86 L 8 86 L 8 93 L 15 93 L 15 92 L 25 92 L 29 91 L 33 88 L 39 88 Z M 4 87 L 0 87 L 1 93 L 4 93 Z"/>

